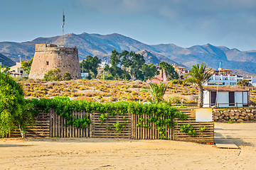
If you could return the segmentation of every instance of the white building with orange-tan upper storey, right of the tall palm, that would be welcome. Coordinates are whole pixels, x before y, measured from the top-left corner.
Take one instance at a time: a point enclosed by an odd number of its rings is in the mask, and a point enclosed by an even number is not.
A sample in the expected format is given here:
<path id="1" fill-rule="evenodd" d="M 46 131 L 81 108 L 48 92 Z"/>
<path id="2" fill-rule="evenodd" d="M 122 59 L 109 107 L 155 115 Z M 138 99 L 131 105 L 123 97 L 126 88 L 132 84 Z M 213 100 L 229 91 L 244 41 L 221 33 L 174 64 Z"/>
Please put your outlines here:
<path id="1" fill-rule="evenodd" d="M 239 80 L 243 80 L 243 77 L 232 74 L 231 69 L 219 68 L 218 70 L 213 70 L 213 76 L 210 77 L 206 85 L 235 86 Z"/>

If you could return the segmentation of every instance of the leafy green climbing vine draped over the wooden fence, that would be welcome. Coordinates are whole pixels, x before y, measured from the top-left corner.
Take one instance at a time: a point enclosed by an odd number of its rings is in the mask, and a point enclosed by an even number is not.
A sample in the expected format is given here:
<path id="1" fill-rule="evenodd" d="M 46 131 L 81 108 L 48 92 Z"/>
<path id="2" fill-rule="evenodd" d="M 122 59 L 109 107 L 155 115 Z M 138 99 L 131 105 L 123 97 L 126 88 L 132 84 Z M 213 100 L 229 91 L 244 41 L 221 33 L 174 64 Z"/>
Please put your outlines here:
<path id="1" fill-rule="evenodd" d="M 157 130 L 159 130 L 160 139 L 166 139 L 166 127 L 174 128 L 177 125 L 174 122 L 174 118 L 178 120 L 186 120 L 187 115 L 181 111 L 176 111 L 176 108 L 166 105 L 165 103 L 156 104 L 156 103 L 137 103 L 131 101 L 119 101 L 115 103 L 98 103 L 93 101 L 70 101 L 69 98 L 65 97 L 55 97 L 55 98 L 41 98 L 29 100 L 34 107 L 43 110 L 43 112 L 49 112 L 52 108 L 56 114 L 63 116 L 65 120 L 68 120 L 67 125 L 74 125 L 77 128 L 85 128 L 87 125 L 90 125 L 91 120 L 86 116 L 85 118 L 73 118 L 72 112 L 98 112 L 100 113 L 101 124 L 105 123 L 108 119 L 108 114 L 114 115 L 124 115 L 126 113 L 132 113 L 136 115 L 149 115 L 149 118 L 146 120 L 144 118 L 139 118 L 137 126 L 150 129 L 151 126 L 149 123 L 154 123 Z M 38 111 L 38 109 L 34 109 Z M 125 116 L 123 116 L 125 120 Z M 128 120 L 127 120 L 128 121 Z M 128 122 L 124 123 L 114 123 L 113 128 L 117 132 L 121 132 L 124 126 Z M 111 129 L 112 127 L 107 127 Z"/>

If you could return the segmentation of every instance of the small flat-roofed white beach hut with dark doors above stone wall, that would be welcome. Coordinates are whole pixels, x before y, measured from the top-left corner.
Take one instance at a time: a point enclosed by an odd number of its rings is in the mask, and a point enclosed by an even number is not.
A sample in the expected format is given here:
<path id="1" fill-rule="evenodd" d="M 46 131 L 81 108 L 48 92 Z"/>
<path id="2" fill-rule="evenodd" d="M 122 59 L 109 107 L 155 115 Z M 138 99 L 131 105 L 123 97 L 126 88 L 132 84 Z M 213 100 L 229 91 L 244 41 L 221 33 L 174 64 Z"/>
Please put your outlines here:
<path id="1" fill-rule="evenodd" d="M 204 88 L 203 107 L 243 107 L 248 106 L 249 91 L 240 88 Z M 217 101 L 216 101 L 217 100 Z"/>

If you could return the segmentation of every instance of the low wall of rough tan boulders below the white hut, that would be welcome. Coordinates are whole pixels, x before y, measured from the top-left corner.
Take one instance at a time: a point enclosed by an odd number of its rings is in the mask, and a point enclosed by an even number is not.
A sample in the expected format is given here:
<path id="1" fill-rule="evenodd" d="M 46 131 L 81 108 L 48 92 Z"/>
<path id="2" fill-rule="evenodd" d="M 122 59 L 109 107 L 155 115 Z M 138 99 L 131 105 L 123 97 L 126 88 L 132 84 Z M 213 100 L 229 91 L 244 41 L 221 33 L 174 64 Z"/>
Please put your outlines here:
<path id="1" fill-rule="evenodd" d="M 256 108 L 215 108 L 213 109 L 215 122 L 256 122 Z"/>

